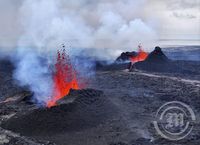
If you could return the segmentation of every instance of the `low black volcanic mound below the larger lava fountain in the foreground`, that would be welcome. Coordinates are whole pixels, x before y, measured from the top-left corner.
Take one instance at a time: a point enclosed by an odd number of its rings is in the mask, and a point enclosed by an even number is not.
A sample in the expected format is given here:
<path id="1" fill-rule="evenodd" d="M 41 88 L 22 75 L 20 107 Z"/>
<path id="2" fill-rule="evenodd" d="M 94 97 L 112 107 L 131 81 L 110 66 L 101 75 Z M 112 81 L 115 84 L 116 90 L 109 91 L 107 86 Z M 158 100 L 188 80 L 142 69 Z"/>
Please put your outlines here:
<path id="1" fill-rule="evenodd" d="M 2 127 L 25 136 L 49 136 L 92 128 L 113 116 L 114 107 L 102 91 L 79 90 L 74 95 L 77 96 L 71 103 L 58 103 L 51 108 L 18 114 L 4 122 Z"/>

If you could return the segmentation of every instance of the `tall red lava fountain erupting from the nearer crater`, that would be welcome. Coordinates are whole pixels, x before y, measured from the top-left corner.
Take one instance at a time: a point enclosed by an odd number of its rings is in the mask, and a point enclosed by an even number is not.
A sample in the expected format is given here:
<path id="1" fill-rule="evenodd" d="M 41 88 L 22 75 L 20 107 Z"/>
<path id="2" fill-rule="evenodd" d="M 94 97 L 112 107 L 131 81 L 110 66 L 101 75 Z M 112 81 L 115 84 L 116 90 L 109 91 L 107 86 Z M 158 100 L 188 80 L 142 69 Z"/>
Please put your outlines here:
<path id="1" fill-rule="evenodd" d="M 70 89 L 79 89 L 77 73 L 72 67 L 69 56 L 65 50 L 58 51 L 55 73 L 53 76 L 54 90 L 51 100 L 47 102 L 47 107 L 56 105 L 56 101 L 69 94 Z"/>

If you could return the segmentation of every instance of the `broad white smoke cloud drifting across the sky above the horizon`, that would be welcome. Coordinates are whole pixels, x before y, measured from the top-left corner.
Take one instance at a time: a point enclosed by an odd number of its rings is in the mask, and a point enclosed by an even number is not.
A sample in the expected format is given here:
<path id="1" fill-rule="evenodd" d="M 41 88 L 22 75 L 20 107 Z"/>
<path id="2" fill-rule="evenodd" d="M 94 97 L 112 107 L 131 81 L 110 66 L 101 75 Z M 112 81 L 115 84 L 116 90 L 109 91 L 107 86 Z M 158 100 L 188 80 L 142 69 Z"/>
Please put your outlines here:
<path id="1" fill-rule="evenodd" d="M 45 51 L 62 43 L 72 48 L 106 48 L 108 53 L 97 50 L 93 55 L 110 59 L 139 43 L 151 47 L 156 32 L 140 19 L 144 4 L 145 0 L 25 0 L 19 45 Z"/>

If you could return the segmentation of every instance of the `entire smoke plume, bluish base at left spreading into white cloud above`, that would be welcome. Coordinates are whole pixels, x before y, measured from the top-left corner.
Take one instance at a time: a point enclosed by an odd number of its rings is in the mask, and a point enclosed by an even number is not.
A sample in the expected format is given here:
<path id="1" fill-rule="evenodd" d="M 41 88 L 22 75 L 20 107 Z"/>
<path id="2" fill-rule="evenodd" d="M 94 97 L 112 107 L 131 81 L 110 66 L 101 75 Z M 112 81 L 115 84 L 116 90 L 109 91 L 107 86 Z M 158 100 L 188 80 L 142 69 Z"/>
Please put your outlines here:
<path id="1" fill-rule="evenodd" d="M 20 9 L 23 35 L 18 43 L 24 49 L 16 55 L 14 77 L 43 103 L 53 90 L 47 64 L 54 64 L 43 54 L 55 53 L 61 44 L 70 47 L 73 55 L 81 55 L 81 49 L 88 51 L 83 54 L 108 60 L 139 43 L 153 46 L 156 32 L 140 19 L 144 4 L 145 0 L 24 0 Z"/>

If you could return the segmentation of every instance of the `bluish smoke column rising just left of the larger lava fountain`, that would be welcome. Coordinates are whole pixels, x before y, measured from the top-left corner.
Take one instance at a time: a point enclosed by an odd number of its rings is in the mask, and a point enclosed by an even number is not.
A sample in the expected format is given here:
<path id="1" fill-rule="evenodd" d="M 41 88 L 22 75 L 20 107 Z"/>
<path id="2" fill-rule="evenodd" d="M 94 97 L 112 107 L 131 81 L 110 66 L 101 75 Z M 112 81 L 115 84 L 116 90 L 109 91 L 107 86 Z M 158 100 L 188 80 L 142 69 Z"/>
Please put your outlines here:
<path id="1" fill-rule="evenodd" d="M 44 55 L 34 49 L 18 49 L 15 54 L 14 78 L 20 86 L 28 86 L 34 92 L 33 101 L 43 105 L 52 95 L 52 70 Z"/>

